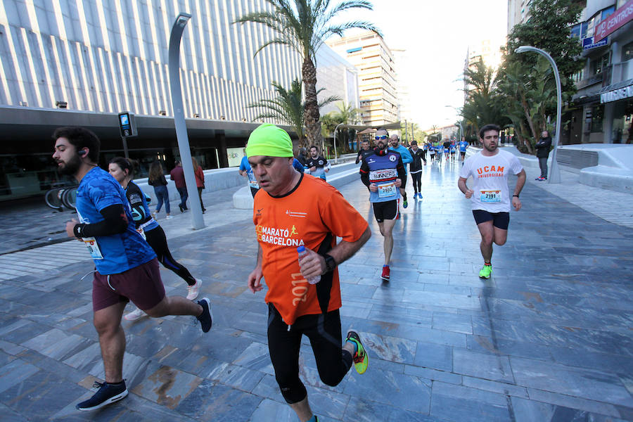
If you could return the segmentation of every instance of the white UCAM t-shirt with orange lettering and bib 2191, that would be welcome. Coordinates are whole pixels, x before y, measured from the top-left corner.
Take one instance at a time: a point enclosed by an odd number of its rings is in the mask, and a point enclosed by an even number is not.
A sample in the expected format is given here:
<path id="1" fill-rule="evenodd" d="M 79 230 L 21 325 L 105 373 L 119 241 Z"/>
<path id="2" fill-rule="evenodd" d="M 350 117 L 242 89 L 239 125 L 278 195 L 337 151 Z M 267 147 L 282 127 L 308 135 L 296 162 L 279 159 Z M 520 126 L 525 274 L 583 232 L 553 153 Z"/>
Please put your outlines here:
<path id="1" fill-rule="evenodd" d="M 463 162 L 459 177 L 473 177 L 471 187 L 475 193 L 471 197 L 473 210 L 487 212 L 510 212 L 511 194 L 508 188 L 508 175 L 519 174 L 523 166 L 512 153 L 499 151 L 492 157 L 476 153 Z"/>

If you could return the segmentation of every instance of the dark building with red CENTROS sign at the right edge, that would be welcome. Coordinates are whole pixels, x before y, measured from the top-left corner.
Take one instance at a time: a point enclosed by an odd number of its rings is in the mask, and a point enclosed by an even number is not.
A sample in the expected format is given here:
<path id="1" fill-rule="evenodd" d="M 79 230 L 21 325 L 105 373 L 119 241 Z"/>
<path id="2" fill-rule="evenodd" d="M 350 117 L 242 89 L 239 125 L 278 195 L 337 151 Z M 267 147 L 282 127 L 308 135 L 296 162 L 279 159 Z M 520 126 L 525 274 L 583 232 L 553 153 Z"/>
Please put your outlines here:
<path id="1" fill-rule="evenodd" d="M 633 0 L 587 0 L 572 35 L 585 65 L 561 141 L 633 143 Z"/>

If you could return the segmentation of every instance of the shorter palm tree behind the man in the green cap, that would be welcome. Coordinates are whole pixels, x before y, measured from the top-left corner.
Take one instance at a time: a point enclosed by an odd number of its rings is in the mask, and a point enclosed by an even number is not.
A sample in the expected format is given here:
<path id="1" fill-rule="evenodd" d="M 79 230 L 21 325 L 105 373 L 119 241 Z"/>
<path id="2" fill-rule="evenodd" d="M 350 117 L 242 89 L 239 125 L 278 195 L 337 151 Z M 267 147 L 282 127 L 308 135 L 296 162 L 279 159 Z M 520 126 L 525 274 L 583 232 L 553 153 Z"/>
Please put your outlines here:
<path id="1" fill-rule="evenodd" d="M 278 122 L 289 124 L 297 132 L 300 146 L 305 146 L 305 104 L 301 97 L 301 79 L 293 80 L 292 84 L 290 84 L 290 89 L 282 87 L 277 82 L 272 82 L 271 85 L 277 93 L 274 100 L 263 99 L 247 106 L 247 108 L 264 109 L 253 121 L 274 119 Z M 316 94 L 323 90 L 324 88 L 319 89 Z M 329 96 L 324 98 L 318 106 L 320 108 L 339 99 L 338 96 Z"/>

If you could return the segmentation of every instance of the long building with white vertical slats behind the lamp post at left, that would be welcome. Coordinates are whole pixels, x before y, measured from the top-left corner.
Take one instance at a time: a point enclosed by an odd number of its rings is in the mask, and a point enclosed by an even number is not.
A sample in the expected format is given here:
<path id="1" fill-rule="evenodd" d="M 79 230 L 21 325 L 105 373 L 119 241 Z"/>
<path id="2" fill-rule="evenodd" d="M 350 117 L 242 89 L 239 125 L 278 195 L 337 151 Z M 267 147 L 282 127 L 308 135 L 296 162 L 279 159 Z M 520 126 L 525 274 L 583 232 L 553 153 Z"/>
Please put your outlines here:
<path id="1" fill-rule="evenodd" d="M 168 44 L 180 12 L 191 14 L 180 77 L 192 153 L 203 168 L 228 166 L 231 148 L 243 147 L 255 127 L 249 122 L 262 111 L 248 105 L 274 98 L 271 82 L 289 87 L 301 76 L 302 60 L 284 46 L 255 56 L 273 37 L 267 28 L 233 24 L 269 7 L 265 0 L 0 0 L 0 200 L 58 182 L 50 158 L 58 125 L 94 129 L 102 164 L 123 155 L 116 119 L 122 111 L 134 113 L 139 125 L 139 136 L 128 141 L 130 158 L 141 160 L 141 169 L 155 158 L 172 167 L 179 153 Z M 357 104 L 354 66 L 325 45 L 316 62 L 317 89 L 326 88 L 321 96 Z M 12 188 L 26 179 L 41 186 Z"/>

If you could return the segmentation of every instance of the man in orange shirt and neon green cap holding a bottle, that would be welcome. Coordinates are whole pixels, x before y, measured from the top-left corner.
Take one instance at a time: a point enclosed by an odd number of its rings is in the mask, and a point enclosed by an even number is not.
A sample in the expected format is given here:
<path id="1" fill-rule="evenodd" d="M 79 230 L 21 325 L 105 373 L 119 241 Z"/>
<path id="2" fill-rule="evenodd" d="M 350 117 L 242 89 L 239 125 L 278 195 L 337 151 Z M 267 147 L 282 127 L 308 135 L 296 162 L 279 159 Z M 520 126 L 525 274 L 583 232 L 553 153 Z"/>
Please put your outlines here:
<path id="1" fill-rule="evenodd" d="M 268 286 L 268 347 L 281 394 L 302 422 L 316 422 L 299 379 L 302 335 L 310 339 L 321 381 L 338 385 L 352 362 L 359 373 L 369 357 L 354 331 L 341 347 L 340 285 L 336 266 L 371 237 L 369 224 L 325 181 L 293 168 L 290 136 L 262 124 L 248 139 L 248 162 L 260 184 L 253 222 L 259 244 L 248 288 Z M 336 243 L 336 237 L 342 238 Z M 307 255 L 298 260 L 297 248 Z M 320 276 L 316 284 L 309 279 Z"/>

